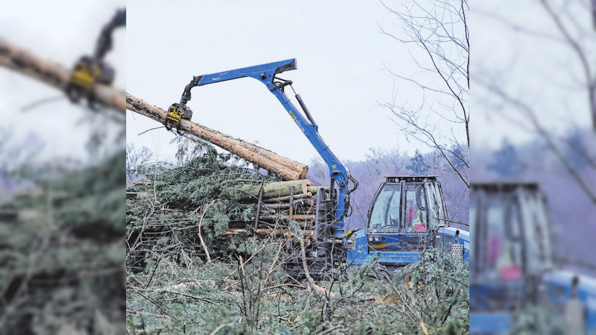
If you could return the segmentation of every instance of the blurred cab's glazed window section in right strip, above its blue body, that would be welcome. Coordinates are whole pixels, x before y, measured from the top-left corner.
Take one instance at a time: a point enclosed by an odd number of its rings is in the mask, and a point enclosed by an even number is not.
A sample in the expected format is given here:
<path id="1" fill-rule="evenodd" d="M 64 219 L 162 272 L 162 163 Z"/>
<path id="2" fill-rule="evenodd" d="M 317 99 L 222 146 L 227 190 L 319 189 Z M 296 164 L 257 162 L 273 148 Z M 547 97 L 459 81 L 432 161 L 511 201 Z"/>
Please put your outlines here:
<path id="1" fill-rule="evenodd" d="M 470 229 L 476 278 L 515 281 L 553 267 L 545 198 L 536 183 L 471 184 Z"/>

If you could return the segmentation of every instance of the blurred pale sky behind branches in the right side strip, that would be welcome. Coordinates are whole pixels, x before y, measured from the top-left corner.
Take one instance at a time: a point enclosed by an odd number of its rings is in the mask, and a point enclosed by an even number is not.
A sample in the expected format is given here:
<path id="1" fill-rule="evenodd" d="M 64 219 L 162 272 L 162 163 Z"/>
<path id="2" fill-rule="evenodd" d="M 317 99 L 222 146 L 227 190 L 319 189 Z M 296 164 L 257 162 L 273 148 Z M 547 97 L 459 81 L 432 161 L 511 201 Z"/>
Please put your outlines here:
<path id="1" fill-rule="evenodd" d="M 550 3 L 572 36 L 591 50 L 588 62 L 596 64 L 596 34 L 585 4 L 565 2 L 563 10 L 560 2 Z M 498 147 L 503 137 L 513 143 L 536 137 L 518 109 L 502 104 L 477 80 L 495 80 L 513 98 L 535 108 L 542 125 L 552 132 L 591 127 L 579 59 L 538 1 L 478 1 L 470 10 L 474 15 L 472 151 Z"/>

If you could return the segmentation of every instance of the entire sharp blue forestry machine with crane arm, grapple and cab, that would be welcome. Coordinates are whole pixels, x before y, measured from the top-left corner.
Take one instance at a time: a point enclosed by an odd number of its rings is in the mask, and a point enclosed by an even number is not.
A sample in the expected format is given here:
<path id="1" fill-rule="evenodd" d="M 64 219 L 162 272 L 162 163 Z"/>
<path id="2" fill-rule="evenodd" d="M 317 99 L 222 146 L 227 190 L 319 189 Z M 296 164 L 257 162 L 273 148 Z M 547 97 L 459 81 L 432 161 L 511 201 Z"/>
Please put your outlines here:
<path id="1" fill-rule="evenodd" d="M 180 102 L 172 104 L 167 110 L 166 129 L 176 127 L 176 132 L 180 133 L 180 120 L 191 119 L 193 112 L 187 102 L 191 100 L 193 87 L 243 77 L 259 80 L 281 102 L 329 168 L 329 189 L 321 187 L 314 196 L 315 234 L 312 242 L 306 245 L 309 273 L 326 274 L 346 263 L 358 267 L 374 256 L 378 257 L 378 264 L 399 272 L 405 265 L 417 262 L 423 248 L 430 245 L 467 261 L 469 233 L 449 227 L 443 193 L 436 176 L 386 177 L 368 210 L 367 227 L 346 231 L 344 220 L 351 214 L 350 194 L 358 187 L 358 181 L 350 176 L 347 167 L 319 135 L 319 127 L 303 99 L 291 86 L 292 81 L 278 77 L 295 69 L 294 58 L 194 76 L 185 87 Z M 285 95 L 288 86 L 302 112 Z M 300 274 L 302 269 L 302 255 L 296 255 L 296 259 L 287 264 L 290 273 Z"/>

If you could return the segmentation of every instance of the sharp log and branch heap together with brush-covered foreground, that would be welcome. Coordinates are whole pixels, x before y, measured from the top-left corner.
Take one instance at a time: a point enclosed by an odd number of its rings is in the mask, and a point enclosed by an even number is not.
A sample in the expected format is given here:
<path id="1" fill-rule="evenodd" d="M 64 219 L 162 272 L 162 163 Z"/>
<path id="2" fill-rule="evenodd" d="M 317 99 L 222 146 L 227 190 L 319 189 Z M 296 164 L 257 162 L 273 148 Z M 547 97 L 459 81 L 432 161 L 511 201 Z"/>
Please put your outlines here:
<path id="1" fill-rule="evenodd" d="M 325 188 L 263 176 L 195 137 L 175 142 L 176 164 L 136 168 L 127 189 L 129 334 L 467 333 L 466 264 L 428 249 L 412 274 L 424 285 L 410 288 L 371 275 L 374 260 L 316 282 L 290 277 L 288 240 L 309 243 L 311 197 Z"/>

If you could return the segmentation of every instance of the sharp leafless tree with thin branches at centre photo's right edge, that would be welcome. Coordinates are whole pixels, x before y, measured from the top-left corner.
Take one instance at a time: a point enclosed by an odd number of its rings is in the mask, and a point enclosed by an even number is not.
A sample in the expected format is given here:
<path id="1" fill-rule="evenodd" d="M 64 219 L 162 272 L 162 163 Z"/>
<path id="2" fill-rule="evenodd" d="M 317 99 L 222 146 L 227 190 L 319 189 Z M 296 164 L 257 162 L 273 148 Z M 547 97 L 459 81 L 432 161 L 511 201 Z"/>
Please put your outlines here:
<path id="1" fill-rule="evenodd" d="M 394 90 L 393 99 L 381 106 L 406 132 L 440 155 L 465 186 L 470 152 L 470 30 L 467 1 L 408 1 L 392 8 L 383 1 L 401 26 L 393 33 L 380 27 L 384 35 L 408 46 L 418 69 L 397 73 L 386 66 L 396 81 L 413 84 L 423 95 L 412 102 Z M 411 46 L 411 47 L 410 47 Z"/>

